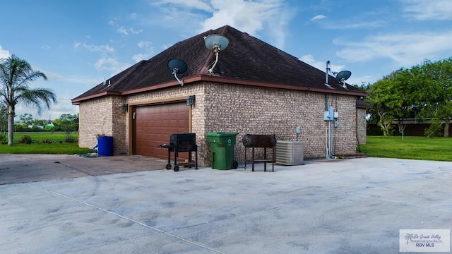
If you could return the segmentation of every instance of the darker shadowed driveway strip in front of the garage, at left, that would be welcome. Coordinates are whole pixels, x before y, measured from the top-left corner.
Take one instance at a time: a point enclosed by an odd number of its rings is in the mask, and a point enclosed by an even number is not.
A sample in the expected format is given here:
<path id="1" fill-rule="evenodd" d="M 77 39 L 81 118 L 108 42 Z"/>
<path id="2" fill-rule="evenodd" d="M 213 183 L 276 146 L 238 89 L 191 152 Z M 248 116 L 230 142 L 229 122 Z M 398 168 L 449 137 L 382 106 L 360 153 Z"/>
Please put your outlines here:
<path id="1" fill-rule="evenodd" d="M 0 185 L 165 169 L 166 164 L 166 159 L 141 155 L 79 157 L 3 154 L 0 155 Z"/>

